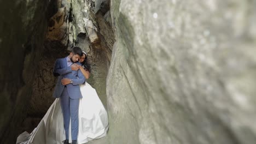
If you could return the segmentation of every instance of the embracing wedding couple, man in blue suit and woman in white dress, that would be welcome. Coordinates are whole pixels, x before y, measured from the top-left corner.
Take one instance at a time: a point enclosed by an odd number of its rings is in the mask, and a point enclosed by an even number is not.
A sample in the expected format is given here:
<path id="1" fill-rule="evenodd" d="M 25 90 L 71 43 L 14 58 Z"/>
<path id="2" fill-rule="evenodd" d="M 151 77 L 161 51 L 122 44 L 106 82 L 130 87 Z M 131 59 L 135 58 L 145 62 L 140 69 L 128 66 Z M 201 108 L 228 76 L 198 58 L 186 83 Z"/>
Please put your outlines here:
<path id="1" fill-rule="evenodd" d="M 56 99 L 37 128 L 31 134 L 20 134 L 16 143 L 82 144 L 106 136 L 108 115 L 86 82 L 91 71 L 87 58 L 80 47 L 73 47 L 69 56 L 56 60 Z"/>

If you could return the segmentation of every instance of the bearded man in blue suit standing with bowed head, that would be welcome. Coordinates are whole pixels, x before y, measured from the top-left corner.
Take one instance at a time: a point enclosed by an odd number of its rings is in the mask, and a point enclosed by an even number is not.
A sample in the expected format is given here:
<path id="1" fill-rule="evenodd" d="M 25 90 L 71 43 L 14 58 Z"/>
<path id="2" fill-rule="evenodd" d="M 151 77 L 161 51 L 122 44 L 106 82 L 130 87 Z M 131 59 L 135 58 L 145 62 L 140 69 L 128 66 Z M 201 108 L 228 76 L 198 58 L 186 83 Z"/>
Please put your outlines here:
<path id="1" fill-rule="evenodd" d="M 64 119 L 64 129 L 68 144 L 69 121 L 71 119 L 72 144 L 77 144 L 78 135 L 78 107 L 82 98 L 79 85 L 85 82 L 85 77 L 79 70 L 79 58 L 83 56 L 80 47 L 73 47 L 69 56 L 55 61 L 53 74 L 58 76 L 54 89 L 54 98 L 60 98 Z M 79 64 L 79 65 L 78 65 Z"/>

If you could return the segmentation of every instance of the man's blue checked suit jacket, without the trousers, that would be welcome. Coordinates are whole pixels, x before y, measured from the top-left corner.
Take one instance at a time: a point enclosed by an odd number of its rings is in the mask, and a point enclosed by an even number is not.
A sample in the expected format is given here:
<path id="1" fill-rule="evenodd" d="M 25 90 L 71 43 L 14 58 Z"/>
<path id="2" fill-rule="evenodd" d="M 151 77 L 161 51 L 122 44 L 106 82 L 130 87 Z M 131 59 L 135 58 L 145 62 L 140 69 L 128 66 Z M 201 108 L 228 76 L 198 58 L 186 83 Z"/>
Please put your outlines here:
<path id="1" fill-rule="evenodd" d="M 77 62 L 77 64 L 81 65 L 79 62 Z M 69 83 L 68 85 L 66 85 L 69 97 L 71 99 L 79 99 L 83 97 L 80 92 L 79 85 L 85 83 L 85 77 L 80 69 L 71 70 L 71 67 L 67 66 L 66 57 L 59 58 L 55 61 L 53 74 L 54 76 L 58 76 L 58 80 L 53 94 L 54 98 L 60 98 L 63 92 L 64 86 L 61 84 L 61 80 L 63 78 L 73 79 L 73 84 Z"/>

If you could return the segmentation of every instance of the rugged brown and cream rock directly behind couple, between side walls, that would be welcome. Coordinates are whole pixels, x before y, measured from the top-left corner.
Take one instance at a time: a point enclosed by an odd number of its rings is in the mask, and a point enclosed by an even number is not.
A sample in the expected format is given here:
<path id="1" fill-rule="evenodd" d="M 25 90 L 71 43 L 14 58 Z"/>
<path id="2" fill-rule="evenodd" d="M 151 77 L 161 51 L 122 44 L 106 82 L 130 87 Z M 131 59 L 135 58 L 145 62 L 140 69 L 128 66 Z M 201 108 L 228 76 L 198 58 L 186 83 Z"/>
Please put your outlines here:
<path id="1" fill-rule="evenodd" d="M 112 49 L 114 36 L 109 23 L 104 23 L 108 26 L 108 31 L 112 32 L 112 34 L 109 33 L 112 37 L 101 39 L 103 35 L 97 29 L 100 29 L 102 23 L 97 22 L 97 19 L 103 19 L 103 16 L 102 14 L 93 15 L 94 19 L 91 19 L 94 21 L 89 20 L 89 15 L 92 15 L 89 11 L 94 10 L 92 8 L 94 7 L 91 7 L 91 2 L 80 4 L 79 2 L 57 1 L 58 10 L 49 20 L 43 55 L 39 60 L 39 67 L 33 81 L 33 96 L 28 105 L 25 124 L 31 124 L 33 119 L 37 122 L 42 119 L 53 103 L 53 91 L 57 80 L 53 76 L 54 62 L 56 58 L 66 57 L 73 46 L 79 46 L 88 53 L 92 71 L 87 82 L 97 90 L 103 104 L 107 107 L 106 77 L 111 55 L 109 46 Z M 88 11 L 88 13 L 82 13 L 83 11 Z M 32 131 L 36 125 L 26 127 L 31 127 L 29 131 Z"/>

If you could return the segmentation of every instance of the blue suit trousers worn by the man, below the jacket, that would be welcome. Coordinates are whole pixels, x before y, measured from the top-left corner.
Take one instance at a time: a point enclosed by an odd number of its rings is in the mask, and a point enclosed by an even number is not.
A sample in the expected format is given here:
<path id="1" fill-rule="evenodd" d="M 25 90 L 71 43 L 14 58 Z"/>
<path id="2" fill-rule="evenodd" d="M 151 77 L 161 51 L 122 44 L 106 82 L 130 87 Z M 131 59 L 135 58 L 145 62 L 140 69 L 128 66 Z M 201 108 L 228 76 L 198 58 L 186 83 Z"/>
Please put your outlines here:
<path id="1" fill-rule="evenodd" d="M 60 100 L 61 100 L 61 110 L 62 110 L 63 120 L 64 120 L 64 129 L 66 131 L 66 139 L 68 140 L 69 122 L 71 119 L 72 140 L 77 140 L 79 99 L 71 99 L 69 97 L 67 88 L 64 87 Z"/>

